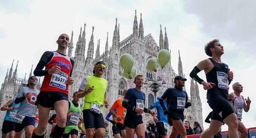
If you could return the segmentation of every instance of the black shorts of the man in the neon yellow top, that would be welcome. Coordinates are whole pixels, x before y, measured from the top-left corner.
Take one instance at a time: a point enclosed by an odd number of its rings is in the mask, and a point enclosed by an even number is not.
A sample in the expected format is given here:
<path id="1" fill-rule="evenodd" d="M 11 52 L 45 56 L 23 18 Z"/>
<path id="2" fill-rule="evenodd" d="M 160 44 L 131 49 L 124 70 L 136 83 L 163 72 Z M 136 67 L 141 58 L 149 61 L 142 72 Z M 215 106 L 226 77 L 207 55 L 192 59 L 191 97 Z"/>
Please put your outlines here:
<path id="1" fill-rule="evenodd" d="M 85 128 L 105 128 L 105 121 L 102 113 L 98 114 L 91 111 L 90 109 L 83 110 L 83 120 L 85 123 Z"/>

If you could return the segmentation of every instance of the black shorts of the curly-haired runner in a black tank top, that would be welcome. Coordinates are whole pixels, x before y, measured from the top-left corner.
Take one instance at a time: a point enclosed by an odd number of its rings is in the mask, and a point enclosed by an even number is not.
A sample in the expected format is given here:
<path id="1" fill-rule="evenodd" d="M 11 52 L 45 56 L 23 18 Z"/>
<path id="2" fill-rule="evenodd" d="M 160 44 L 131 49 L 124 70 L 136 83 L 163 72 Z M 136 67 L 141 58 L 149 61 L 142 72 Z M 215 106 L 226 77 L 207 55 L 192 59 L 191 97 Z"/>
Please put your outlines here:
<path id="1" fill-rule="evenodd" d="M 220 95 L 208 95 L 207 100 L 209 106 L 211 107 L 211 109 L 213 109 L 213 112 L 211 114 L 212 120 L 218 120 L 223 122 L 223 120 L 227 118 L 227 116 L 234 113 L 228 101 Z"/>

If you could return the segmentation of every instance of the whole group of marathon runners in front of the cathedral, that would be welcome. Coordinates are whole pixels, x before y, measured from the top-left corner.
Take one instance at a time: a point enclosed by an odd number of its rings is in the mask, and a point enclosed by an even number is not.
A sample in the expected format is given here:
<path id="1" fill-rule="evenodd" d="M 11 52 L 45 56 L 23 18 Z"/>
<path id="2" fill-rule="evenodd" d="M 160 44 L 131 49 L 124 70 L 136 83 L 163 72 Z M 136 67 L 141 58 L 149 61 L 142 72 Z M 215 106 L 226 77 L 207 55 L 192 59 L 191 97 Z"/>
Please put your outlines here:
<path id="1" fill-rule="evenodd" d="M 124 97 L 117 99 L 110 107 L 105 121 L 103 108 L 109 106 L 106 93 L 108 82 L 102 78 L 106 70 L 105 63 L 99 61 L 95 64 L 93 75 L 83 78 L 79 90 L 73 92 L 73 100 L 68 101 L 68 85 L 74 82 L 71 77 L 74 61 L 66 55 L 69 36 L 61 34 L 56 43 L 57 51 L 43 53 L 35 68 L 35 76 L 44 76 L 40 91 L 36 89 L 37 78 L 31 76 L 27 87 L 21 87 L 16 99 L 10 99 L 1 108 L 7 111 L 3 121 L 3 138 L 9 132 L 11 138 L 20 138 L 24 128 L 26 138 L 44 138 L 48 123 L 53 125 L 50 134 L 52 138 L 68 138 L 70 135 L 78 138 L 79 129 L 81 138 L 107 138 L 108 121 L 113 124 L 115 138 L 144 138 L 143 113 L 152 115 L 157 132 L 162 138 L 168 138 L 167 131 L 170 126 L 173 126 L 170 138 L 176 138 L 178 134 L 180 138 L 186 138 L 183 112 L 191 106 L 187 93 L 183 90 L 186 78 L 176 76 L 175 87 L 168 88 L 161 97 L 157 97 L 157 101 L 146 108 L 145 93 L 142 92 L 143 76 L 137 75 L 133 82 L 135 88 L 123 91 Z M 207 89 L 208 104 L 213 109 L 209 115 L 210 126 L 203 131 L 201 138 L 211 138 L 224 123 L 228 125 L 230 138 L 238 138 L 237 131 L 245 137 L 247 132 L 241 123 L 242 109 L 249 111 L 251 100 L 240 95 L 243 87 L 238 82 L 233 84 L 234 93 L 228 95 L 228 85 L 234 75 L 228 65 L 221 61 L 224 51 L 219 41 L 214 39 L 206 44 L 205 51 L 211 58 L 200 61 L 190 73 L 190 77 Z M 197 76 L 201 70 L 206 73 L 206 82 Z M 80 98 L 84 98 L 83 107 L 79 104 Z M 154 108 L 157 116 L 152 110 Z M 49 119 L 49 113 L 53 109 L 56 114 Z M 153 131 L 150 131 L 150 135 L 156 136 Z"/>

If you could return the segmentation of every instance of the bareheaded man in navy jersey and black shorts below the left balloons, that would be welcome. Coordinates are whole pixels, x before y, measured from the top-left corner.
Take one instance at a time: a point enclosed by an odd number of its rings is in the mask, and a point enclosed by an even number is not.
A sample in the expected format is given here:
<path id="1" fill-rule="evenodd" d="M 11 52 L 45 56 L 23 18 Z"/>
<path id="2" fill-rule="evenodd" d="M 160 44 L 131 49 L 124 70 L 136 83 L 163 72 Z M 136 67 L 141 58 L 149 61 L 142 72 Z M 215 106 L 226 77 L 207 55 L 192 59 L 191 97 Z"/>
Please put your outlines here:
<path id="1" fill-rule="evenodd" d="M 122 106 L 127 109 L 123 126 L 125 127 L 127 138 L 134 138 L 134 132 L 136 132 L 138 138 L 144 138 L 145 127 L 142 121 L 142 113 L 147 112 L 152 116 L 156 113 L 144 107 L 145 93 L 141 91 L 143 76 L 137 75 L 133 83 L 136 85 L 135 88 L 128 89 L 122 102 Z"/>

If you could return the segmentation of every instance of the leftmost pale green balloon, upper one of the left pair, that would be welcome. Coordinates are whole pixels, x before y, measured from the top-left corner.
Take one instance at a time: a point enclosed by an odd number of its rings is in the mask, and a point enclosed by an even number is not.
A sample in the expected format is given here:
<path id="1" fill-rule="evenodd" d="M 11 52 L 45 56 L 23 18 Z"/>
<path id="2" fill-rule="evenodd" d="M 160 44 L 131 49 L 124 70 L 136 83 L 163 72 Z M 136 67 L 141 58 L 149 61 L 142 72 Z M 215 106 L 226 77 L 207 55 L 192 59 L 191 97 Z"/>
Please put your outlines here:
<path id="1" fill-rule="evenodd" d="M 119 59 L 120 66 L 127 72 L 131 73 L 131 68 L 134 64 L 134 59 L 130 54 L 123 54 Z"/>

